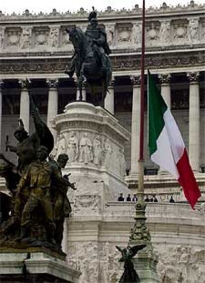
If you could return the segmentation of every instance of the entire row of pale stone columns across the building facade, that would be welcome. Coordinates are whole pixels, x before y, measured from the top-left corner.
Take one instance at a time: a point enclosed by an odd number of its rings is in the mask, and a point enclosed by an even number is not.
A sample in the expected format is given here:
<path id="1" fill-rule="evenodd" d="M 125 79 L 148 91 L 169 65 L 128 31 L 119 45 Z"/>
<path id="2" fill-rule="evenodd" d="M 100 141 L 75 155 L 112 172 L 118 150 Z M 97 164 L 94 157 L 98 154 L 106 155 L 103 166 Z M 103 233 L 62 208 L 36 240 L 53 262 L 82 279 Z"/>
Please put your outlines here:
<path id="1" fill-rule="evenodd" d="M 189 158 L 194 171 L 199 171 L 200 167 L 200 97 L 199 97 L 199 72 L 187 73 L 189 85 Z M 139 133 L 140 133 L 140 76 L 130 77 L 133 86 L 132 98 L 132 138 L 131 138 L 131 175 L 138 174 L 138 159 L 139 159 Z M 171 88 L 170 74 L 160 74 L 159 81 L 161 83 L 161 94 L 164 97 L 167 106 L 171 107 Z M 20 118 L 24 122 L 26 131 L 29 132 L 29 91 L 28 81 L 19 80 L 21 86 L 20 95 Z M 0 133 L 1 133 L 1 112 L 2 112 L 2 85 L 0 80 Z M 51 120 L 57 115 L 58 108 L 58 80 L 47 80 L 49 87 L 48 98 L 48 115 L 47 125 L 56 139 L 56 132 L 51 128 Z M 86 90 L 83 86 L 82 98 L 86 100 Z M 79 100 L 79 90 L 76 93 L 76 100 Z M 111 114 L 114 114 L 114 80 L 111 81 L 108 87 L 108 93 L 105 98 L 105 109 Z M 0 139 L 1 141 L 1 139 Z"/>

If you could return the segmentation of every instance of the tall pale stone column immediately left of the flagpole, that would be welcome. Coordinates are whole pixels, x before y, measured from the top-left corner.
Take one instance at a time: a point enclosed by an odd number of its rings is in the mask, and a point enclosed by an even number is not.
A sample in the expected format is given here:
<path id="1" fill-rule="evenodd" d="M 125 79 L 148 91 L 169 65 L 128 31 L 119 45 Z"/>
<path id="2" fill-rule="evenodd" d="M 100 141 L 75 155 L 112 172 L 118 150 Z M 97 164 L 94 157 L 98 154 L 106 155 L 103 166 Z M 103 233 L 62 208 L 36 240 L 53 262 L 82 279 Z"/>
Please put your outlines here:
<path id="1" fill-rule="evenodd" d="M 132 94 L 132 137 L 131 137 L 131 175 L 138 174 L 139 143 L 140 143 L 140 76 L 130 77 L 133 85 Z"/>

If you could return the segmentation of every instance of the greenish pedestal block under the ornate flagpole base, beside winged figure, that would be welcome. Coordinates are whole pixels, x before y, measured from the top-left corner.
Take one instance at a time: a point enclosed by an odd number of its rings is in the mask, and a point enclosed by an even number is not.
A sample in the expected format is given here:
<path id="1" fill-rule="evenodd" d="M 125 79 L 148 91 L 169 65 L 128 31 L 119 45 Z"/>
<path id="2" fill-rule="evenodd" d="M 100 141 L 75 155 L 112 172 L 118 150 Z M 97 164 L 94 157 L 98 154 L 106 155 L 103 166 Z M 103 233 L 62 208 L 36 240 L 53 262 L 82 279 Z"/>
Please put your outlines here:
<path id="1" fill-rule="evenodd" d="M 132 261 L 142 283 L 160 282 L 156 272 L 158 259 L 153 251 L 139 252 Z"/>

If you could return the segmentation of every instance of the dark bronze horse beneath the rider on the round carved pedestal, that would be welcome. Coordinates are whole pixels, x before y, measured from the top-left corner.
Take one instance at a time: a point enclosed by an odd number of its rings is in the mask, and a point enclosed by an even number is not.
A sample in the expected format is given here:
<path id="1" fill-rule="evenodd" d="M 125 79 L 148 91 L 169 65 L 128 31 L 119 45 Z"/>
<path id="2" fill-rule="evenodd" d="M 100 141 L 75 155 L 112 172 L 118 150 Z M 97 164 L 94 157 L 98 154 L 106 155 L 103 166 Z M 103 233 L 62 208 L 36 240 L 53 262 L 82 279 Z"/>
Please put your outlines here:
<path id="1" fill-rule="evenodd" d="M 111 80 L 111 62 L 106 56 L 106 70 L 102 69 L 102 62 L 92 41 L 89 41 L 81 28 L 66 29 L 70 41 L 74 46 L 73 63 L 77 75 L 80 100 L 82 100 L 82 85 L 86 82 L 91 89 L 94 104 L 104 106 L 104 98 Z M 96 87 L 102 86 L 101 101 L 98 101 Z"/>

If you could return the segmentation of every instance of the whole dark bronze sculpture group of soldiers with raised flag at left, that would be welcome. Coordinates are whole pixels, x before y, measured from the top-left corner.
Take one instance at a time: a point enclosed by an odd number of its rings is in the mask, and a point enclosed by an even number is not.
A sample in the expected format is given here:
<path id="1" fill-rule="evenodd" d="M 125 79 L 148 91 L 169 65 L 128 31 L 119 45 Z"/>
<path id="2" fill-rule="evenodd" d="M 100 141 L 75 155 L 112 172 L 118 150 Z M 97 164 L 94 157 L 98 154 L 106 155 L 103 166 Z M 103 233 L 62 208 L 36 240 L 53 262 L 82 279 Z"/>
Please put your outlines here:
<path id="1" fill-rule="evenodd" d="M 60 154 L 57 161 L 49 156 L 53 148 L 51 131 L 31 96 L 30 103 L 36 131 L 29 136 L 20 120 L 14 132 L 17 145 L 6 141 L 6 149 L 18 156 L 18 165 L 0 154 L 0 176 L 5 178 L 11 194 L 10 215 L 4 215 L 0 225 L 0 246 L 60 250 L 64 218 L 71 212 L 67 189 L 76 188 L 67 175 L 62 176 L 67 154 Z"/>

